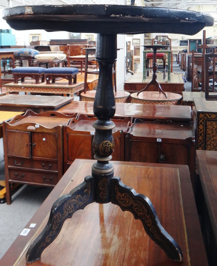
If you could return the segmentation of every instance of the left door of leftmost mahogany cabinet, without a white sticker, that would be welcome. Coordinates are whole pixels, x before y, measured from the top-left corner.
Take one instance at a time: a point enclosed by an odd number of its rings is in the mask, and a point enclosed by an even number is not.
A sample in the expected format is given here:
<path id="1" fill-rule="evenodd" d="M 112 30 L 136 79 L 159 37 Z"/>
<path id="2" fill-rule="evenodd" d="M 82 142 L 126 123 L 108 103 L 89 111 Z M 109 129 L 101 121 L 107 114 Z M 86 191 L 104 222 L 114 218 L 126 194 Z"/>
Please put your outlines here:
<path id="1" fill-rule="evenodd" d="M 6 130 L 7 155 L 23 158 L 31 157 L 31 133 Z"/>

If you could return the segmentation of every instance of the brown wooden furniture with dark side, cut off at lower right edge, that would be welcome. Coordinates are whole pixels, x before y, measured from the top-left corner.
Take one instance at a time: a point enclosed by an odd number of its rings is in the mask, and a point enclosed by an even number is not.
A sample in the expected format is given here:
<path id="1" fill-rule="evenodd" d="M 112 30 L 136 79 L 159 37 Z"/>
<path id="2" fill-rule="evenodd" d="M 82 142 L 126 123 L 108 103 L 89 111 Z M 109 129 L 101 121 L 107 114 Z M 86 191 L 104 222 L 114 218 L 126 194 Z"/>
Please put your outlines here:
<path id="1" fill-rule="evenodd" d="M 210 266 L 217 262 L 217 151 L 196 151 L 196 204 Z"/>

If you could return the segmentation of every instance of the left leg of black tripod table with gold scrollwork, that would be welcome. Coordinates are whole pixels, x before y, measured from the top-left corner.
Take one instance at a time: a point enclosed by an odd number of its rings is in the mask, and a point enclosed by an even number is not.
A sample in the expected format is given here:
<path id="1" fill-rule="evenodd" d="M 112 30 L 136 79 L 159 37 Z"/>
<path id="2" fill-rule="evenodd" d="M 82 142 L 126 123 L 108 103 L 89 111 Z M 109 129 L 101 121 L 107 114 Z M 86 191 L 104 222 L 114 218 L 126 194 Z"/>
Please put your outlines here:
<path id="1" fill-rule="evenodd" d="M 94 202 L 93 182 L 92 176 L 86 176 L 82 184 L 54 202 L 48 223 L 27 251 L 27 263 L 40 260 L 41 253 L 56 239 L 65 220 L 71 218 L 75 211 L 83 210 L 88 204 Z"/>

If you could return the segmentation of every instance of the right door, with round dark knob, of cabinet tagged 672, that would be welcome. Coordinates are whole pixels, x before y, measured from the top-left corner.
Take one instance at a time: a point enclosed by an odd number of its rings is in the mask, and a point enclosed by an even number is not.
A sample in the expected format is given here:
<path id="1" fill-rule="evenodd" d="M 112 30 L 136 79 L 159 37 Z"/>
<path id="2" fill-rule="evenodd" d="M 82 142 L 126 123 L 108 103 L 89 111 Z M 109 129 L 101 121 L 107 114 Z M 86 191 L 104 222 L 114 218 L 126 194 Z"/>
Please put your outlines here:
<path id="1" fill-rule="evenodd" d="M 160 143 L 159 163 L 189 165 L 189 145 Z"/>

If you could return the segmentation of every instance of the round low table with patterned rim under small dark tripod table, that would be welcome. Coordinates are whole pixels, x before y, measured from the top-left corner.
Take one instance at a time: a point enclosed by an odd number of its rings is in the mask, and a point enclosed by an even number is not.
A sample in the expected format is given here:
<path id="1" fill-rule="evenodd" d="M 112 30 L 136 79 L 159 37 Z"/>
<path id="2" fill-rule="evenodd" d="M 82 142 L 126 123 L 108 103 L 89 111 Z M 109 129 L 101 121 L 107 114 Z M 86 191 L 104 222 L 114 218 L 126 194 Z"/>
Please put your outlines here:
<path id="1" fill-rule="evenodd" d="M 146 104 L 161 104 L 161 105 L 179 105 L 182 95 L 178 93 L 165 92 L 167 98 L 163 93 L 159 92 L 138 92 L 130 94 L 131 103 L 146 103 Z"/>

